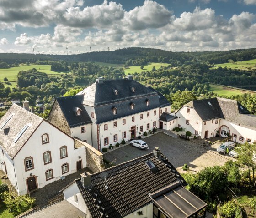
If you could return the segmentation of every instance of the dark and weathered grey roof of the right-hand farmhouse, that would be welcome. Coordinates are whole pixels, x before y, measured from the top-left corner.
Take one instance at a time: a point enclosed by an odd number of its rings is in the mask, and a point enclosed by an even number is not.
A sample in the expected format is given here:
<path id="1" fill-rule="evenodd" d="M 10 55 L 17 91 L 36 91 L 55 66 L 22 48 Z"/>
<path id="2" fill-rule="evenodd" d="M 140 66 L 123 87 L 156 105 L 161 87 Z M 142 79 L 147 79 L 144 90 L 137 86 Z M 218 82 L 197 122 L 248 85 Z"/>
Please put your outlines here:
<path id="1" fill-rule="evenodd" d="M 223 118 L 231 122 L 256 127 L 256 116 L 250 114 L 244 106 L 235 100 L 217 97 L 193 100 L 185 106 L 194 108 L 203 121 Z"/>

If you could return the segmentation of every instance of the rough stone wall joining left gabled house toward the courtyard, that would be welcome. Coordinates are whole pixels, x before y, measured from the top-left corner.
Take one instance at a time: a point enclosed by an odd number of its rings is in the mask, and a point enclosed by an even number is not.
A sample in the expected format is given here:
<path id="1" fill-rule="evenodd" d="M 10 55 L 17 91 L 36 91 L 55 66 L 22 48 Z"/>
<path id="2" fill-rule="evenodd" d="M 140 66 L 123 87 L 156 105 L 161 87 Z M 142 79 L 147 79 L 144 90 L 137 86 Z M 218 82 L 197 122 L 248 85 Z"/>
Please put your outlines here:
<path id="1" fill-rule="evenodd" d="M 85 146 L 86 150 L 86 167 L 91 170 L 93 173 L 100 172 L 105 169 L 103 162 L 103 154 L 96 150 L 91 145 L 80 141 L 75 138 L 75 147 Z"/>

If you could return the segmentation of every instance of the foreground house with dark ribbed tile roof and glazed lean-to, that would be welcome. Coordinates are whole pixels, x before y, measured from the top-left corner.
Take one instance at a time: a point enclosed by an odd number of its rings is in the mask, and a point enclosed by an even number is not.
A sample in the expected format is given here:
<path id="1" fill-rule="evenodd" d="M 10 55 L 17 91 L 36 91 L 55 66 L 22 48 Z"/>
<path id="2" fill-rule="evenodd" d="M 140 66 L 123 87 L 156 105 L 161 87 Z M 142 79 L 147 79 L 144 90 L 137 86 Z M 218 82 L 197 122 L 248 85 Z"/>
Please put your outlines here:
<path id="1" fill-rule="evenodd" d="M 205 217 L 207 206 L 156 147 L 154 152 L 94 174 L 83 173 L 62 189 L 86 218 Z"/>

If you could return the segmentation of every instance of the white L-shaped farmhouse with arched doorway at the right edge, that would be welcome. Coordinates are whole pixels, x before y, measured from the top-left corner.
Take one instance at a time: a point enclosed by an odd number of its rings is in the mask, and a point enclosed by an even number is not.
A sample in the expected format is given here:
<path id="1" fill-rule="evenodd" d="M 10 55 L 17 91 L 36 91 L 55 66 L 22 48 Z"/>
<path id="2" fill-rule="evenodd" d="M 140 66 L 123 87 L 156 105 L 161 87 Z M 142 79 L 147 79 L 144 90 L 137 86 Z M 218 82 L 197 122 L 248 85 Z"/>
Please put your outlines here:
<path id="1" fill-rule="evenodd" d="M 177 126 L 209 138 L 232 136 L 233 142 L 256 142 L 256 116 L 235 100 L 210 98 L 190 101 L 176 112 Z"/>

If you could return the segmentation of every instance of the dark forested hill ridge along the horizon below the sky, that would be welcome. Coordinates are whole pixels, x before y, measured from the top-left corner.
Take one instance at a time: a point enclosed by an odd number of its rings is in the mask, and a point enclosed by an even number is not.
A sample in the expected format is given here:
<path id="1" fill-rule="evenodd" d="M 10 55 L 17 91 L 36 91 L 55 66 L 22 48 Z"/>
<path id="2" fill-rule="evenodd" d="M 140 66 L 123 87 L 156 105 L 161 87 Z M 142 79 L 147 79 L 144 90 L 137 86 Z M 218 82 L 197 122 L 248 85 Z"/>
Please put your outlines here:
<path id="1" fill-rule="evenodd" d="M 164 62 L 172 66 L 181 66 L 203 61 L 210 64 L 233 61 L 246 61 L 256 58 L 256 49 L 239 49 L 230 51 L 171 52 L 153 48 L 123 48 L 115 51 L 95 51 L 78 55 L 44 55 L 0 53 L 0 62 L 35 63 L 37 61 L 99 61 L 115 64 L 144 65 L 146 62 Z"/>

